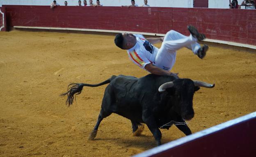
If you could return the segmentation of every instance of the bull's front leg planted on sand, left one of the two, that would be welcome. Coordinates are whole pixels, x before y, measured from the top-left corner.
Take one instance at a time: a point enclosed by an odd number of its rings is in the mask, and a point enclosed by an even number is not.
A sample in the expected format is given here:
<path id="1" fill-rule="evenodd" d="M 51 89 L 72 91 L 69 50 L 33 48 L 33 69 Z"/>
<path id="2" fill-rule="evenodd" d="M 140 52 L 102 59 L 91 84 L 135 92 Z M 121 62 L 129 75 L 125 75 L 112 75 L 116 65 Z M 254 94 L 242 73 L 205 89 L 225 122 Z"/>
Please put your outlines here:
<path id="1" fill-rule="evenodd" d="M 145 122 L 145 124 L 148 126 L 149 130 L 155 137 L 155 141 L 157 142 L 157 145 L 161 145 L 161 138 L 162 138 L 162 133 L 159 130 L 155 118 L 152 116 L 153 114 L 146 114 L 142 115 L 142 119 Z"/>

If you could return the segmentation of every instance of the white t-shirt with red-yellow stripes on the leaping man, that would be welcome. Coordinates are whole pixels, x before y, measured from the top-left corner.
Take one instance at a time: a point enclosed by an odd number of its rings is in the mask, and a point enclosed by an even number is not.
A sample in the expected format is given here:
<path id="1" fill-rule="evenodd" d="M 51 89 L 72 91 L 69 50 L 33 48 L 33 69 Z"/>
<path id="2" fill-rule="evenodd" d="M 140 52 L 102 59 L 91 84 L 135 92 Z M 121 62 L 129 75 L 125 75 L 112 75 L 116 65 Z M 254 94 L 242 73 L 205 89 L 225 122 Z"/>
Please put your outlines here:
<path id="1" fill-rule="evenodd" d="M 140 68 L 145 69 L 146 64 L 155 64 L 155 56 L 158 53 L 158 48 L 153 46 L 143 35 L 134 34 L 136 44 L 131 49 L 127 50 L 130 60 Z"/>

